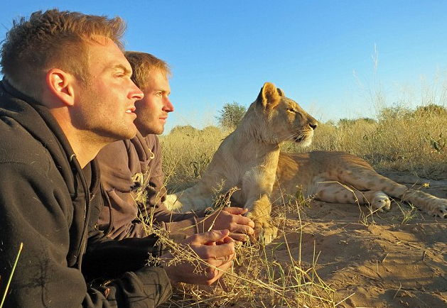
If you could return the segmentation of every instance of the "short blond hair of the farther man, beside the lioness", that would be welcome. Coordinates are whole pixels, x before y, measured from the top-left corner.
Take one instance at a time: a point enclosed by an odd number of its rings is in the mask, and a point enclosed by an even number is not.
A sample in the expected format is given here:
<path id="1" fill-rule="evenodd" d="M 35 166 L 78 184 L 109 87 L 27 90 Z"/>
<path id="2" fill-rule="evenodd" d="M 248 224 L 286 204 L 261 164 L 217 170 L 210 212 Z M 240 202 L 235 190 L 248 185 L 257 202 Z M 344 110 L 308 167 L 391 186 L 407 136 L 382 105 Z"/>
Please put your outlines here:
<path id="1" fill-rule="evenodd" d="M 124 55 L 132 67 L 131 79 L 141 91 L 144 91 L 146 88 L 149 76 L 151 76 L 154 70 L 159 70 L 166 78 L 171 77 L 171 68 L 168 63 L 150 53 L 126 51 Z"/>

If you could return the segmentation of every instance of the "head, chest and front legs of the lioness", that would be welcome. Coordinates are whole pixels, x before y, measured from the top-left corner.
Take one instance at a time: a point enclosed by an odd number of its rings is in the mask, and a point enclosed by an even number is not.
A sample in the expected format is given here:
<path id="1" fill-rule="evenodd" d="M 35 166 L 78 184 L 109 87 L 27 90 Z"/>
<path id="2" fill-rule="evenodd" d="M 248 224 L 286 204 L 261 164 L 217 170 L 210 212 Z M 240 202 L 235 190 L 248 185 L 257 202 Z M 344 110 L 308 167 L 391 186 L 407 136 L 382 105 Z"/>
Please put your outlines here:
<path id="1" fill-rule="evenodd" d="M 169 209 L 194 211 L 212 204 L 215 192 L 238 187 L 232 198 L 249 209 L 255 233 L 265 243 L 276 236 L 271 226 L 270 194 L 276 178 L 279 145 L 294 141 L 309 145 L 317 121 L 269 82 L 247 110 L 241 123 L 217 149 L 208 169 L 193 187 L 167 196 Z"/>

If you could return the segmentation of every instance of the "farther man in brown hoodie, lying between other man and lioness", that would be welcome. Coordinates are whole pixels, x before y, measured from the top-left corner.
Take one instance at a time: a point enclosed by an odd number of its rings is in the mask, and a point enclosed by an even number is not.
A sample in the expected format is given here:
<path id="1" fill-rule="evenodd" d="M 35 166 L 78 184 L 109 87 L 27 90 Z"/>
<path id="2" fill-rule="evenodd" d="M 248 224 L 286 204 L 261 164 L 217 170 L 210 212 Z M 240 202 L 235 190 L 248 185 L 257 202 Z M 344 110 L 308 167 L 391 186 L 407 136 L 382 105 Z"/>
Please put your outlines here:
<path id="1" fill-rule="evenodd" d="M 131 78 L 144 92 L 144 98 L 135 103 L 136 136 L 107 145 L 97 156 L 107 191 L 99 229 L 117 239 L 144 237 L 148 235 L 147 225 L 155 222 L 171 233 L 186 236 L 209 229 L 228 229 L 236 241 L 247 241 L 254 233 L 254 223 L 242 216 L 246 209 L 208 208 L 179 214 L 163 205 L 166 189 L 156 135 L 163 133 L 168 113 L 174 110 L 168 97 L 171 70 L 166 62 L 149 53 L 126 51 L 125 55 L 133 70 Z"/>

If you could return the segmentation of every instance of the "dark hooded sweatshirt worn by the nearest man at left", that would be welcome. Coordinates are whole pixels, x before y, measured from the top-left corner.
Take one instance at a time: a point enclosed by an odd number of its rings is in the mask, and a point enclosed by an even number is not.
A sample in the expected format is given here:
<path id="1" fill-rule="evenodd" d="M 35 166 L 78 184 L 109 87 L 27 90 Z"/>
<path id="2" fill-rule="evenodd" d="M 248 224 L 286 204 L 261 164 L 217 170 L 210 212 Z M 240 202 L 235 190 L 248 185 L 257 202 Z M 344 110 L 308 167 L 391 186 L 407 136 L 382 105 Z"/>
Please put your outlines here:
<path id="1" fill-rule="evenodd" d="M 97 164 L 81 170 L 48 109 L 0 82 L 0 295 L 23 243 L 4 307 L 156 307 L 168 299 L 166 272 L 145 266 L 149 253 L 163 253 L 156 238 L 111 241 L 92 228 L 101 192 Z M 85 277 L 111 280 L 99 286 Z"/>

